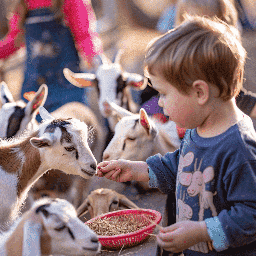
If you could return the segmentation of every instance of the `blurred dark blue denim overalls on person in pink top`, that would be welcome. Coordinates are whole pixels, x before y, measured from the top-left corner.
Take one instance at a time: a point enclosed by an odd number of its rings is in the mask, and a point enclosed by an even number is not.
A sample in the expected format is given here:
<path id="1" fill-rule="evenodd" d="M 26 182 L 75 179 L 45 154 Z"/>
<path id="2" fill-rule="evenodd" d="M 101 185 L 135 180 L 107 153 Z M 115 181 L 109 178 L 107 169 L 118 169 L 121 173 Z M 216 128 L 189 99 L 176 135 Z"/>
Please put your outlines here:
<path id="1" fill-rule="evenodd" d="M 71 101 L 84 103 L 84 90 L 68 82 L 63 69 L 80 72 L 79 57 L 69 28 L 61 25 L 49 9 L 28 12 L 25 19 L 27 60 L 21 97 L 37 91 L 41 84 L 48 86 L 44 107 L 52 112 Z M 39 115 L 37 120 L 41 121 Z"/>

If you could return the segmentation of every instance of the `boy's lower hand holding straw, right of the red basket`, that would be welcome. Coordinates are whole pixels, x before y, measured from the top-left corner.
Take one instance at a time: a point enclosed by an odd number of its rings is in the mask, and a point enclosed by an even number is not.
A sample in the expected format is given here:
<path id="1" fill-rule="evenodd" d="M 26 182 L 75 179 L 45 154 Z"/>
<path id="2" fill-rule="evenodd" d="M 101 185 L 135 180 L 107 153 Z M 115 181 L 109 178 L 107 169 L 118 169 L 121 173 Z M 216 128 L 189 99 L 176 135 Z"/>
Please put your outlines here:
<path id="1" fill-rule="evenodd" d="M 158 245 L 173 253 L 188 249 L 194 244 L 211 241 L 204 221 L 180 221 L 161 228 L 156 237 Z"/>

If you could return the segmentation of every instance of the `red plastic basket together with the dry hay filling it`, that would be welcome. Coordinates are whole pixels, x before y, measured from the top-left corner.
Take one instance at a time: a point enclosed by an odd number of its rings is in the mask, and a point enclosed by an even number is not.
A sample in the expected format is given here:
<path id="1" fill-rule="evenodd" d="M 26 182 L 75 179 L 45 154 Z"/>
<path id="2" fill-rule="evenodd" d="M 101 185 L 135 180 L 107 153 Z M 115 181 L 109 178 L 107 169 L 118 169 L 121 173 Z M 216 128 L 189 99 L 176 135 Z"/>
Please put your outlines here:
<path id="1" fill-rule="evenodd" d="M 127 248 L 145 241 L 161 221 L 161 213 L 150 209 L 126 209 L 97 216 L 85 224 L 109 249 Z"/>

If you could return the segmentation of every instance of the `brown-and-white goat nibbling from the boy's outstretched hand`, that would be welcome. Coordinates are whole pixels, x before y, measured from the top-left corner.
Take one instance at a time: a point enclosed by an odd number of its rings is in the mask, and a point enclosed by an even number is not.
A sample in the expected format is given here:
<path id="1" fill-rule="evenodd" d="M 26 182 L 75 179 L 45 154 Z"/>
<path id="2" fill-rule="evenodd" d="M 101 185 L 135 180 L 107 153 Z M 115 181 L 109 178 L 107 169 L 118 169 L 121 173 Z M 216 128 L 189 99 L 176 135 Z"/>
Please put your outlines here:
<path id="1" fill-rule="evenodd" d="M 97 161 L 87 142 L 87 125 L 54 119 L 40 106 L 43 122 L 33 132 L 0 140 L 0 230 L 20 211 L 31 186 L 54 168 L 83 178 L 94 176 Z"/>

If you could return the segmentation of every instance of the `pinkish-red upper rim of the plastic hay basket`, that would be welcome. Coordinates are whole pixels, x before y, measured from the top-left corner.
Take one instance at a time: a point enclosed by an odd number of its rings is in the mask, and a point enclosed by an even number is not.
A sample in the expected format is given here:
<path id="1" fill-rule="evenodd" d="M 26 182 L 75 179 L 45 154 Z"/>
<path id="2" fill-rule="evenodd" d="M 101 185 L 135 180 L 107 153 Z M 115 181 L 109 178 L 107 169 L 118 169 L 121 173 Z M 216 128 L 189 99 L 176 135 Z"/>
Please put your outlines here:
<path id="1" fill-rule="evenodd" d="M 113 212 L 108 212 L 108 213 L 104 213 L 104 214 L 101 214 L 99 216 L 96 216 L 88 221 L 86 221 L 84 224 L 87 225 L 87 223 L 91 222 L 91 221 L 94 221 L 98 218 L 104 218 L 104 217 L 112 217 L 112 216 L 118 216 L 118 215 L 121 215 L 121 214 L 126 214 L 126 213 L 142 213 L 142 214 L 147 214 L 147 213 L 153 213 L 156 215 L 156 220 L 154 222 L 156 222 L 157 224 L 161 221 L 162 219 L 162 215 L 160 212 L 156 211 L 156 210 L 151 210 L 151 209 L 145 209 L 145 208 L 139 208 L 139 209 L 123 209 L 123 210 L 118 210 L 118 211 L 113 211 Z M 97 237 L 99 238 L 99 240 L 109 240 L 109 239 L 120 239 L 120 238 L 126 238 L 126 237 L 131 237 L 133 235 L 139 235 L 140 233 L 144 233 L 145 231 L 151 229 L 151 228 L 155 228 L 156 225 L 154 223 L 151 223 L 150 225 L 142 228 L 142 229 L 139 229 L 139 230 L 136 230 L 136 231 L 133 231 L 133 232 L 130 232 L 130 233 L 126 233 L 126 234 L 120 234 L 120 235 L 113 235 L 113 236 L 99 236 L 97 235 Z M 150 234 L 150 233 L 148 233 Z"/>

